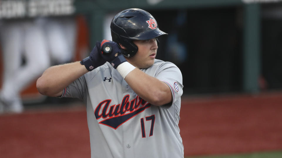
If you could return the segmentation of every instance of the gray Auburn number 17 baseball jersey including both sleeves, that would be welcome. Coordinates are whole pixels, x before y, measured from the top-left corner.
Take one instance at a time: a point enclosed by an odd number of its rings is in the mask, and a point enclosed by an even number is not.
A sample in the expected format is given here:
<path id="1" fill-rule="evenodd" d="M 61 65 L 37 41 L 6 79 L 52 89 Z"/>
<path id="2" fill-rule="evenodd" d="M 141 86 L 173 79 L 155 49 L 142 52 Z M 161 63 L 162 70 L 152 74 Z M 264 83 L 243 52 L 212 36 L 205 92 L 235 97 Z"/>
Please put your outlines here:
<path id="1" fill-rule="evenodd" d="M 64 90 L 61 97 L 80 98 L 86 104 L 91 157 L 183 157 L 178 127 L 182 74 L 173 63 L 157 59 L 140 70 L 170 87 L 172 103 L 146 102 L 108 62 Z"/>

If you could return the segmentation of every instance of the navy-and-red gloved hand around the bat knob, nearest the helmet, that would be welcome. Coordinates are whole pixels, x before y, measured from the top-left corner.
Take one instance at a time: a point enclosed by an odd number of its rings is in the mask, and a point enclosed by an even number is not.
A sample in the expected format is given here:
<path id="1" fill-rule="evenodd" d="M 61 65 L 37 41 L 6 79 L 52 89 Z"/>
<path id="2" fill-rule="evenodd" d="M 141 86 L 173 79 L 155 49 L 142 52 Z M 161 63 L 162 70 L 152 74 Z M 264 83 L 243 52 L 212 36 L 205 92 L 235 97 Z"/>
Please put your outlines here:
<path id="1" fill-rule="evenodd" d="M 103 46 L 109 47 L 110 51 L 103 50 Z M 122 55 L 122 49 L 118 46 L 116 42 L 103 40 L 101 43 L 96 42 L 96 47 L 98 48 L 99 53 L 102 58 L 108 61 L 114 68 L 117 68 L 121 63 L 127 61 Z"/>

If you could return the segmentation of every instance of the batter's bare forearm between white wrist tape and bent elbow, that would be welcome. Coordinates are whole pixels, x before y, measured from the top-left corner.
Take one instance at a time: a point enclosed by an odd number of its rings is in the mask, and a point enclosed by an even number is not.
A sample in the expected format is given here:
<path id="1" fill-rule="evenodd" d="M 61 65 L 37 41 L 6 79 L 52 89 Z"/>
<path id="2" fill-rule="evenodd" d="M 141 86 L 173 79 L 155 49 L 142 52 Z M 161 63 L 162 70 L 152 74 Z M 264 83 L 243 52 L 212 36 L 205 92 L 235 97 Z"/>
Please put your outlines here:
<path id="1" fill-rule="evenodd" d="M 153 105 L 161 106 L 172 101 L 172 94 L 167 84 L 138 68 L 128 73 L 125 81 L 137 95 Z"/>

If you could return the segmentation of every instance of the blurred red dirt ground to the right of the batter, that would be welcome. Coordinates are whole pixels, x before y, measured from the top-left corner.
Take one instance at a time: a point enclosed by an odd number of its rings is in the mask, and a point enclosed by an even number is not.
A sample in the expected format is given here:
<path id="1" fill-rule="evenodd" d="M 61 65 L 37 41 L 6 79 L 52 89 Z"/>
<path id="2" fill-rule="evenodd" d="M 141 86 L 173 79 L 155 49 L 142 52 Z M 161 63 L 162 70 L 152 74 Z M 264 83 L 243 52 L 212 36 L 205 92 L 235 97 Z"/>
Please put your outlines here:
<path id="1" fill-rule="evenodd" d="M 184 102 L 179 126 L 185 155 L 282 149 L 282 93 Z"/>

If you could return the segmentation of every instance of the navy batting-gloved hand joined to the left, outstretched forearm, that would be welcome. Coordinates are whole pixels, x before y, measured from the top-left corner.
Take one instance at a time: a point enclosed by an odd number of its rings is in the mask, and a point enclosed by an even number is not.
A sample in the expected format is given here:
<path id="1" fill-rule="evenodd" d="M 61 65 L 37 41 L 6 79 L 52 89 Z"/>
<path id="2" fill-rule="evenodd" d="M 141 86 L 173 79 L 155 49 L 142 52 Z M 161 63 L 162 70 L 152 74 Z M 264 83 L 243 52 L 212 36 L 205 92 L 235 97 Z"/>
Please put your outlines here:
<path id="1" fill-rule="evenodd" d="M 80 61 L 80 64 L 84 65 L 88 71 L 92 71 L 95 68 L 103 65 L 104 63 L 106 63 L 106 60 L 102 58 L 96 46 L 93 48 L 87 58 Z"/>

